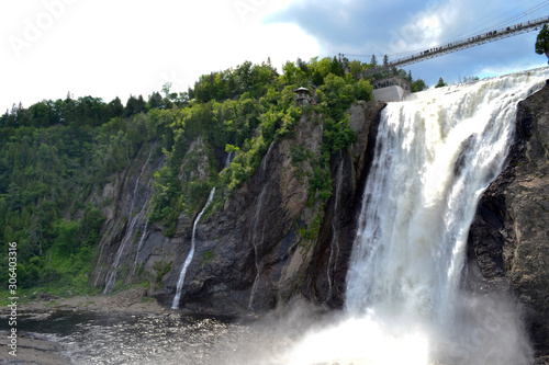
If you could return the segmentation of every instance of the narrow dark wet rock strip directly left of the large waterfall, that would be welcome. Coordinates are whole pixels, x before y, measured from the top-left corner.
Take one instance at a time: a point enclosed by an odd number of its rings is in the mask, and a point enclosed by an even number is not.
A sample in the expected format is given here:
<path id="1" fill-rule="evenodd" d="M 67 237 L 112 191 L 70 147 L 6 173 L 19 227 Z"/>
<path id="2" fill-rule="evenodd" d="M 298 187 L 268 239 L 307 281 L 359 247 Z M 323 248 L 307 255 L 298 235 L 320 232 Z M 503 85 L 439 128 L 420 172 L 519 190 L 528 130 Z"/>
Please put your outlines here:
<path id="1" fill-rule="evenodd" d="M 345 300 L 348 261 L 368 171 L 373 158 L 383 102 L 359 102 L 350 109 L 357 142 L 332 159 L 333 189 L 307 270 L 306 297 L 339 308 Z"/>

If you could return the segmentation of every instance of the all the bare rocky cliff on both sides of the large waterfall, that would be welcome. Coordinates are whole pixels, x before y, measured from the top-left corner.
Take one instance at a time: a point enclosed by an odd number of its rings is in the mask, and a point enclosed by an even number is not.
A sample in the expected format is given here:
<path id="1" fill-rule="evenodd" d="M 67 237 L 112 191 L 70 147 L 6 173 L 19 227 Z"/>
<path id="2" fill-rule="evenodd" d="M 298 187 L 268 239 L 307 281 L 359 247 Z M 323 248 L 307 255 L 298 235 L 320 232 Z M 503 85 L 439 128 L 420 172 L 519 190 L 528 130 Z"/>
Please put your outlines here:
<path id="1" fill-rule="evenodd" d="M 519 104 L 508 166 L 486 190 L 471 226 L 463 282 L 474 294 L 512 293 L 538 354 L 549 353 L 548 100 L 549 85 Z M 260 312 L 293 297 L 327 308 L 343 306 L 356 219 L 384 105 L 359 102 L 350 109 L 358 138 L 332 157 L 326 202 L 310 198 L 324 128 L 323 116 L 314 113 L 301 117 L 291 137 L 272 142 L 251 178 L 217 199 L 223 204 L 214 199 L 197 227 L 180 308 Z M 153 173 L 165 163 L 155 148 L 145 145 L 131 167 L 96 193 L 94 203 L 108 219 L 92 281 L 105 293 L 146 282 L 149 294 L 170 305 L 199 212 L 181 214 L 171 237 L 147 221 Z M 187 153 L 197 156 L 204 148 L 199 138 Z M 223 169 L 226 155 L 214 155 Z M 200 161 L 195 166 L 200 174 Z"/>

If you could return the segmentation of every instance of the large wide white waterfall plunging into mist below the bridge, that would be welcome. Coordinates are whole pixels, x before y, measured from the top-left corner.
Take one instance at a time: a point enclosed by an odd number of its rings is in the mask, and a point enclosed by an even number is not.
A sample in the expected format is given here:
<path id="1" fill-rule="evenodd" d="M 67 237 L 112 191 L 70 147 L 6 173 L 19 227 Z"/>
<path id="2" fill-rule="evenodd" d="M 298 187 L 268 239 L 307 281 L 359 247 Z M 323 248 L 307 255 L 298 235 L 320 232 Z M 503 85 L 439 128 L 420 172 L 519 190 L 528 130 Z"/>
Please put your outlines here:
<path id="1" fill-rule="evenodd" d="M 528 363 L 520 330 L 495 310 L 488 322 L 474 319 L 482 306 L 471 309 L 459 283 L 469 227 L 482 192 L 504 168 L 516 105 L 547 77 L 540 69 L 388 104 L 350 258 L 345 319 L 306 337 L 290 364 Z"/>

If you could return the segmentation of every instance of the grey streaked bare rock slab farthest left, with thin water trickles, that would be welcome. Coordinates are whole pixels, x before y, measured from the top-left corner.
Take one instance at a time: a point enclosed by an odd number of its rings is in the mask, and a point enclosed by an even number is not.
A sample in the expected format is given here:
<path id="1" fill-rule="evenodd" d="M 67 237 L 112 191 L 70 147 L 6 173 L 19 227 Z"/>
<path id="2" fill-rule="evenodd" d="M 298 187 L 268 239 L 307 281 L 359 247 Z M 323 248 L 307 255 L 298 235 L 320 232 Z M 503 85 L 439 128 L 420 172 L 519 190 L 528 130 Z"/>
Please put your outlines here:
<path id="1" fill-rule="evenodd" d="M 144 265 L 150 262 L 149 255 L 160 255 L 166 250 L 172 253 L 169 244 L 163 244 L 168 242 L 160 231 L 155 232 L 147 224 L 153 174 L 164 166 L 164 157 L 154 153 L 155 148 L 156 145 L 144 145 L 137 158 L 90 199 L 101 207 L 107 218 L 91 276 L 93 285 L 105 288 L 105 293 L 112 292 L 116 282 L 119 285 L 131 283 L 139 276 Z"/>

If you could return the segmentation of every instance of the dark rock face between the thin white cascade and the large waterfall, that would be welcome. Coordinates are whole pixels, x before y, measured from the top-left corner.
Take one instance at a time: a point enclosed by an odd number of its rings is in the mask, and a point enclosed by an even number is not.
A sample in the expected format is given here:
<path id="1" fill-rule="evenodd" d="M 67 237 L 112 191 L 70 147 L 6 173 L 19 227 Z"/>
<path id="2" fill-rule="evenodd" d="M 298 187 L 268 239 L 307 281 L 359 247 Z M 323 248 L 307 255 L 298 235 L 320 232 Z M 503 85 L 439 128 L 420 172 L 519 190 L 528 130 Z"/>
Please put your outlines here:
<path id="1" fill-rule="evenodd" d="M 359 140 L 349 153 L 333 159 L 333 195 L 324 207 L 309 202 L 312 161 L 321 153 L 322 116 L 303 115 L 292 138 L 271 144 L 251 179 L 198 225 L 181 308 L 265 311 L 294 296 L 340 305 L 368 139 L 383 106 L 359 103 L 351 109 Z M 300 150 L 309 158 L 300 158 Z M 310 237 L 307 229 L 318 233 Z M 172 298 L 189 243 L 187 237 L 178 246 L 164 278 L 167 290 L 158 298 L 165 303 Z"/>

